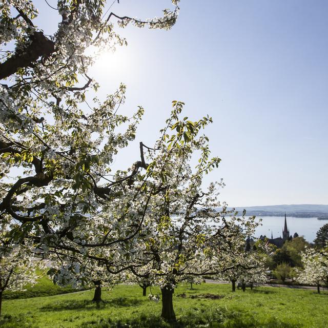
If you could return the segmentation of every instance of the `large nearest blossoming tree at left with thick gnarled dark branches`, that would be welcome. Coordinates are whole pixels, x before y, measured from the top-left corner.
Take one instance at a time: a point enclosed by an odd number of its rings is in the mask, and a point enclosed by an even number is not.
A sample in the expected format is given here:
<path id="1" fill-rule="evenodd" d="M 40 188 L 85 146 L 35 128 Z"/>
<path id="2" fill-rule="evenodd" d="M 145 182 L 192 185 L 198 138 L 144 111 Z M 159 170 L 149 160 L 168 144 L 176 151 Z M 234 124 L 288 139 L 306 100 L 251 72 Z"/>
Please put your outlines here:
<path id="1" fill-rule="evenodd" d="M 106 242 L 114 247 L 141 228 L 137 222 L 147 209 L 147 193 L 133 189 L 122 194 L 118 186 L 132 186 L 136 178 L 148 175 L 138 174 L 147 169 L 141 158 L 128 163 L 126 170 L 111 172 L 114 156 L 135 138 L 144 110 L 139 107 L 130 117 L 118 113 L 124 85 L 104 102 L 95 94 L 87 100 L 86 92 L 98 88 L 88 69 L 100 50 L 126 43 L 115 32 L 113 19 L 121 28 L 131 23 L 170 29 L 179 10 L 173 1 L 173 11 L 140 20 L 107 14 L 105 4 L 58 1 L 54 8 L 60 22 L 50 36 L 34 23 L 38 11 L 32 1 L 10 0 L 0 6 L 1 219 L 12 221 L 9 233 L 15 243 L 33 240 L 45 254 L 71 252 L 96 262 L 88 247 Z M 136 198 L 138 219 L 125 213 Z M 120 204 L 118 216 L 107 211 L 108 203 Z M 112 227 L 105 231 L 103 221 Z M 83 236 L 90 225 L 100 229 L 101 238 L 92 235 L 92 244 L 85 246 Z"/>

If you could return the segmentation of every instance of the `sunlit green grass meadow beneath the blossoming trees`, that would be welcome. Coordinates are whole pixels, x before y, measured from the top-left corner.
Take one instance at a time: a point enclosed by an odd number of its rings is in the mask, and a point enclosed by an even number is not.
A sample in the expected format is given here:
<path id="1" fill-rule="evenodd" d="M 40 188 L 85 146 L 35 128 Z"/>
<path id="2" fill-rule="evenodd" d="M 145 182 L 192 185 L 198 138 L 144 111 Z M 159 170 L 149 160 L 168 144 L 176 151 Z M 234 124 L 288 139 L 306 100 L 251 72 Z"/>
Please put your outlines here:
<path id="1" fill-rule="evenodd" d="M 153 293 L 159 293 L 153 288 Z M 93 291 L 5 300 L 3 328 L 150 328 L 171 327 L 160 318 L 161 304 L 142 296 L 139 286 L 103 291 L 99 308 Z M 180 285 L 175 290 L 174 327 L 327 328 L 328 293 L 276 287 L 231 292 L 228 284 Z"/>

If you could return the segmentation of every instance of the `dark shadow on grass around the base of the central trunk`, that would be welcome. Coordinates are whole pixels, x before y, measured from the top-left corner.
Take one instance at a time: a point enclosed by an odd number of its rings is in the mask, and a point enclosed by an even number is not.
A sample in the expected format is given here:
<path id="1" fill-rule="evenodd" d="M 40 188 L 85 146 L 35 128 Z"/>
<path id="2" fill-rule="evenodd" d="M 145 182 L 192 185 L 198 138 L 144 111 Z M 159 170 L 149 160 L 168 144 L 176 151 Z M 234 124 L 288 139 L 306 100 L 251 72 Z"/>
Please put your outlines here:
<path id="1" fill-rule="evenodd" d="M 168 323 L 159 316 L 142 314 L 131 319 L 114 321 L 109 319 L 92 320 L 84 323 L 84 328 L 300 328 L 291 324 L 268 318 L 259 322 L 252 314 L 241 311 L 228 311 L 226 308 L 215 308 L 207 311 L 188 311 L 177 318 L 174 323 Z"/>

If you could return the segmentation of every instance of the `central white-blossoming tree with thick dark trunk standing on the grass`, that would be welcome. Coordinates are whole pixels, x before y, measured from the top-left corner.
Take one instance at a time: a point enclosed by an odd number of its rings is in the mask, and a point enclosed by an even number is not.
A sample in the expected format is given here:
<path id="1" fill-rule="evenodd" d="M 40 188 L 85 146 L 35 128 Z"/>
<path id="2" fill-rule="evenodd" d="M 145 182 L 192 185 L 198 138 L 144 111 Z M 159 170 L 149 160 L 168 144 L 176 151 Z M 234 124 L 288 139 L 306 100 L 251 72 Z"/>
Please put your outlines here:
<path id="1" fill-rule="evenodd" d="M 129 247 L 135 250 L 135 263 L 140 264 L 130 268 L 132 273 L 147 276 L 160 287 L 161 316 L 167 321 L 175 321 L 172 296 L 176 285 L 192 276 L 238 267 L 231 262 L 234 250 L 244 245 L 257 226 L 254 217 L 238 218 L 218 201 L 222 182 L 202 189 L 204 175 L 220 162 L 218 157 L 209 157 L 209 139 L 201 134 L 212 120 L 180 118 L 182 106 L 174 101 L 168 126 L 145 156 L 151 174 L 147 188 L 153 196 L 145 227 L 136 236 L 139 241 Z M 151 267 L 147 266 L 149 262 Z"/>

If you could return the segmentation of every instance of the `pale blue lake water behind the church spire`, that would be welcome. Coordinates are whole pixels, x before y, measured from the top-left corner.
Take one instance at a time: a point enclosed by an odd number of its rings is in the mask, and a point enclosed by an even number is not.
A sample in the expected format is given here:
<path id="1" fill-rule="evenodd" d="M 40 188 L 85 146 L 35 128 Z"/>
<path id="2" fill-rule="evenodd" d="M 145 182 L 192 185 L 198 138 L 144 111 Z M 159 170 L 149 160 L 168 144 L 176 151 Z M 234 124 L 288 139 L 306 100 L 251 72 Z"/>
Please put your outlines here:
<path id="1" fill-rule="evenodd" d="M 271 238 L 271 232 L 273 238 L 282 237 L 284 216 L 257 216 L 257 218 L 262 219 L 262 226 L 256 229 L 255 237 L 266 235 Z M 290 234 L 293 236 L 297 232 L 299 236 L 304 236 L 309 242 L 316 238 L 317 231 L 326 223 L 328 220 L 318 220 L 316 217 L 287 217 Z"/>

